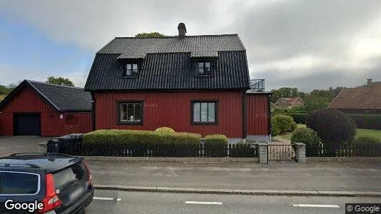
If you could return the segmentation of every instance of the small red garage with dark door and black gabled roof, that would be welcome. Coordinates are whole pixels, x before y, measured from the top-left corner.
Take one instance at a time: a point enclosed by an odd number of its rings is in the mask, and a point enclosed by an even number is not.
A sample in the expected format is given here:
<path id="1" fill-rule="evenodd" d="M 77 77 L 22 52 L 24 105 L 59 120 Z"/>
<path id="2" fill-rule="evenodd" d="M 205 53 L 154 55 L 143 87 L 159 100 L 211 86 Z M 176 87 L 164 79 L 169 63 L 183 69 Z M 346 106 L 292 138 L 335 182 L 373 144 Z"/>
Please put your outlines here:
<path id="1" fill-rule="evenodd" d="M 25 80 L 0 102 L 0 135 L 63 136 L 91 131 L 91 95 L 83 88 Z"/>

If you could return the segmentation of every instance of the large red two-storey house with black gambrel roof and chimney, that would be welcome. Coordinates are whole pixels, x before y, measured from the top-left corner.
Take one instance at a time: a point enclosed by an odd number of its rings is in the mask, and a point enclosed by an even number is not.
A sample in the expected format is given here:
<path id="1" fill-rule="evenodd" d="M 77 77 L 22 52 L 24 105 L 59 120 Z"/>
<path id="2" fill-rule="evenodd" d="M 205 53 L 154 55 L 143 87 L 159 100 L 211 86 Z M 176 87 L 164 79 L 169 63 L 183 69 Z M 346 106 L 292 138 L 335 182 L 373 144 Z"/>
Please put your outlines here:
<path id="1" fill-rule="evenodd" d="M 161 38 L 116 37 L 96 53 L 85 91 L 93 129 L 225 134 L 268 140 L 269 93 L 250 89 L 248 61 L 237 34 Z M 251 104 L 250 104 L 251 103 Z"/>

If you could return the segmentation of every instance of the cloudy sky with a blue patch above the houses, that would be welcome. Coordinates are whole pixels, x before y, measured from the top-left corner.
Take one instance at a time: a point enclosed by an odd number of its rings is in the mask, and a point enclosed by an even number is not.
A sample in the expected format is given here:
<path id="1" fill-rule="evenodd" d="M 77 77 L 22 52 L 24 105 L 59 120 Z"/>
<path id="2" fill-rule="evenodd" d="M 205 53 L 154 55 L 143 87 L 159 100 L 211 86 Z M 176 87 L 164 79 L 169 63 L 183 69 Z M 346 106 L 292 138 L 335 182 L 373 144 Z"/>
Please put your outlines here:
<path id="1" fill-rule="evenodd" d="M 66 76 L 83 86 L 115 36 L 238 34 L 251 78 L 302 91 L 381 81 L 380 0 L 0 0 L 0 84 Z"/>

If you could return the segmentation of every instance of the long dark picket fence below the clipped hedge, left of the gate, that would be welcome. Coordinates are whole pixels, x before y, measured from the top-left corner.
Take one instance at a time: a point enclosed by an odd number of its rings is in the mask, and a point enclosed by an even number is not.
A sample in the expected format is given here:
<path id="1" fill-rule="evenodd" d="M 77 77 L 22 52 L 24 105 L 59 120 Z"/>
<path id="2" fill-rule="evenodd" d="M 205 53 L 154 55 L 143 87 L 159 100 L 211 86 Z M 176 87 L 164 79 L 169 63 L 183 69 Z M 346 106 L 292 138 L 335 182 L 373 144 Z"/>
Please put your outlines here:
<path id="1" fill-rule="evenodd" d="M 251 144 L 227 144 L 215 148 L 205 146 L 203 143 L 199 145 L 128 146 L 120 143 L 61 142 L 59 148 L 48 146 L 48 152 L 66 153 L 73 156 L 258 158 L 258 148 Z"/>

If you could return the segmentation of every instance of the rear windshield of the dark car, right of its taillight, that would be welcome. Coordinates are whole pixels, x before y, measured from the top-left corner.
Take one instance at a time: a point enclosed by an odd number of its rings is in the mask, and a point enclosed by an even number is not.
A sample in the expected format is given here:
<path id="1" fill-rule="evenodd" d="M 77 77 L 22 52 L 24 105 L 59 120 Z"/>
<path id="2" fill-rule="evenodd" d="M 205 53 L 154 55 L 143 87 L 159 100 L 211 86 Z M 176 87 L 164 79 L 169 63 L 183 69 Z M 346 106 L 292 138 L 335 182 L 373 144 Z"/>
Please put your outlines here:
<path id="1" fill-rule="evenodd" d="M 71 167 L 53 174 L 54 186 L 56 190 L 64 190 L 73 183 L 85 179 L 86 170 L 83 163 L 76 163 Z"/>

